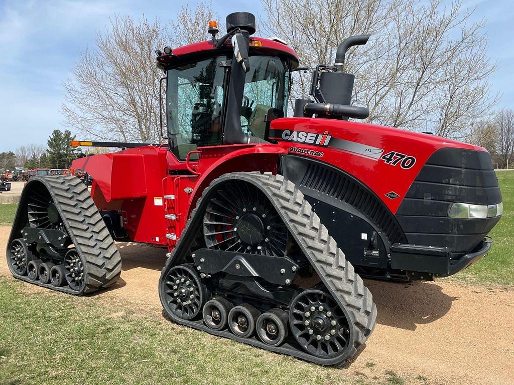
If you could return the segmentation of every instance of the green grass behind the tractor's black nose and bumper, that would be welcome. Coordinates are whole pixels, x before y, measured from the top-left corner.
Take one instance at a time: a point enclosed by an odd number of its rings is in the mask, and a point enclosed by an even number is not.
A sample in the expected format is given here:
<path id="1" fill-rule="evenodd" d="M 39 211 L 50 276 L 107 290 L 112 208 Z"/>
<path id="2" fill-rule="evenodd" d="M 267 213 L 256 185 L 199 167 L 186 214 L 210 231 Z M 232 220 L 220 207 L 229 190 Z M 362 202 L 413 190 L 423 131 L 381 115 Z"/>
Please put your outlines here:
<path id="1" fill-rule="evenodd" d="M 471 283 L 514 284 L 514 171 L 498 171 L 503 216 L 489 236 L 494 239 L 485 258 L 453 276 Z"/>

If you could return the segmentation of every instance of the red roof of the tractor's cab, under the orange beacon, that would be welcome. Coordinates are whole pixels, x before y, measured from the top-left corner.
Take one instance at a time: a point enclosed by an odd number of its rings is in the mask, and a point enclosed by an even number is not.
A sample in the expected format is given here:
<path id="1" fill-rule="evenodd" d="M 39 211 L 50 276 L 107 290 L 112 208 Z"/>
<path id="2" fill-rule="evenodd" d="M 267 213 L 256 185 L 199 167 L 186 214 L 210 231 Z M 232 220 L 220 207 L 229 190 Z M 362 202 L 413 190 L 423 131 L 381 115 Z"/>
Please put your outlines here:
<path id="1" fill-rule="evenodd" d="M 229 48 L 231 50 L 232 44 L 228 40 L 223 46 L 216 48 L 212 40 L 189 44 L 182 47 L 174 48 L 172 57 L 166 61 L 158 60 L 166 67 L 174 66 L 175 64 L 184 63 L 189 60 L 195 60 L 201 56 L 207 56 L 215 52 L 226 52 Z M 250 54 L 270 54 L 270 55 L 285 55 L 291 60 L 291 68 L 298 67 L 298 55 L 289 46 L 263 37 L 250 37 Z M 162 56 L 161 56 L 162 57 Z"/>

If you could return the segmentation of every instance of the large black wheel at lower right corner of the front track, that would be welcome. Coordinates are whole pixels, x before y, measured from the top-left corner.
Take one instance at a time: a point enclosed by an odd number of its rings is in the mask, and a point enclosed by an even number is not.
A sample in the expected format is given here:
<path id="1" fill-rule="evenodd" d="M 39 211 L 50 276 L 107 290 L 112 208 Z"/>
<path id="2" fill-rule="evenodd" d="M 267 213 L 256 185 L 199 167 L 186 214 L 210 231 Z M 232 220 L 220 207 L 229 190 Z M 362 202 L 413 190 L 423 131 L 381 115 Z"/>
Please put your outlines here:
<path id="1" fill-rule="evenodd" d="M 336 301 L 325 292 L 305 290 L 293 299 L 289 311 L 291 331 L 308 353 L 332 358 L 348 348 L 348 321 Z"/>

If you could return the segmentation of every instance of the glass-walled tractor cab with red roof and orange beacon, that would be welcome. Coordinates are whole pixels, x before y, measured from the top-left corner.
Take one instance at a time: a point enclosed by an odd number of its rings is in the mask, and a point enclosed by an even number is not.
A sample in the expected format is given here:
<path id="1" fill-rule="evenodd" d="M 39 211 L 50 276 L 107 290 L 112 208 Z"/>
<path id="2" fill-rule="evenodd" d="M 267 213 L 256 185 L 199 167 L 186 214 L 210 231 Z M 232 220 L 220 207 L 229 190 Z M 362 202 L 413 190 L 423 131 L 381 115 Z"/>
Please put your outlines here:
<path id="1" fill-rule="evenodd" d="M 157 51 L 166 72 L 164 137 L 181 161 L 201 146 L 263 143 L 269 122 L 286 115 L 296 53 L 278 41 L 250 38 L 254 18 L 244 16 L 232 23 L 228 17 L 220 39 L 211 22 L 212 41 Z"/>

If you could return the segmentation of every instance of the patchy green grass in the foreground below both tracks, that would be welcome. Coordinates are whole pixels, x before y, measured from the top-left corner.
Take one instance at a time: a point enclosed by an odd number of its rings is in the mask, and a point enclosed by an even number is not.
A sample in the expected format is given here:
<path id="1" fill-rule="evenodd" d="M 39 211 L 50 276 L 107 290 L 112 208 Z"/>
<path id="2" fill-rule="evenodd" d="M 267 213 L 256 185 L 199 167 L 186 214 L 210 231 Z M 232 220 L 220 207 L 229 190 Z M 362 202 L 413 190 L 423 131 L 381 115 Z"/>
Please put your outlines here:
<path id="1" fill-rule="evenodd" d="M 358 382 L 345 369 L 209 336 L 160 316 L 126 314 L 126 303 L 34 293 L 6 277 L 0 277 L 0 298 L 3 385 Z"/>

